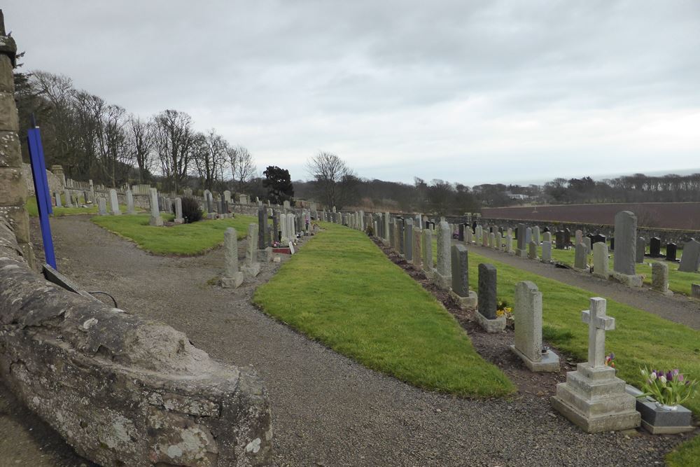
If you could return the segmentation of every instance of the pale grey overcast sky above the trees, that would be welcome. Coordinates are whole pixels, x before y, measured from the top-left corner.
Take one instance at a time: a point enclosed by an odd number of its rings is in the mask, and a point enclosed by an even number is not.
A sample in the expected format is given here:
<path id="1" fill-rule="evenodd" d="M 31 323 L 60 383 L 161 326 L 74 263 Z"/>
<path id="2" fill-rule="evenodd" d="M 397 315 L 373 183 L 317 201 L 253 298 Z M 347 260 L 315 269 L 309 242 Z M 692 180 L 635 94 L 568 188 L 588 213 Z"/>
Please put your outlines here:
<path id="1" fill-rule="evenodd" d="M 700 167 L 700 1 L 3 2 L 25 69 L 262 170 L 476 185 Z"/>

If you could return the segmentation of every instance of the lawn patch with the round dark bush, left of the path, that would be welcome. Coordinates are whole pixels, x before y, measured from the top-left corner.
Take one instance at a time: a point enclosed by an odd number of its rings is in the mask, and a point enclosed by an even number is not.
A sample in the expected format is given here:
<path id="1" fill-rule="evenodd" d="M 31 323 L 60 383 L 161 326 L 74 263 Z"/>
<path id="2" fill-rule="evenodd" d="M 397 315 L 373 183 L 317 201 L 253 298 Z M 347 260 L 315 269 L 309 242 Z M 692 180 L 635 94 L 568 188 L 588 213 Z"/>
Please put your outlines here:
<path id="1" fill-rule="evenodd" d="M 161 214 L 172 221 L 172 214 Z M 91 220 L 102 228 L 132 240 L 139 248 L 151 253 L 197 255 L 223 244 L 223 233 L 233 227 L 239 239 L 248 235 L 248 224 L 257 223 L 253 216 L 237 215 L 230 219 L 202 220 L 192 224 L 179 224 L 169 227 L 148 225 L 151 216 L 95 216 Z"/>

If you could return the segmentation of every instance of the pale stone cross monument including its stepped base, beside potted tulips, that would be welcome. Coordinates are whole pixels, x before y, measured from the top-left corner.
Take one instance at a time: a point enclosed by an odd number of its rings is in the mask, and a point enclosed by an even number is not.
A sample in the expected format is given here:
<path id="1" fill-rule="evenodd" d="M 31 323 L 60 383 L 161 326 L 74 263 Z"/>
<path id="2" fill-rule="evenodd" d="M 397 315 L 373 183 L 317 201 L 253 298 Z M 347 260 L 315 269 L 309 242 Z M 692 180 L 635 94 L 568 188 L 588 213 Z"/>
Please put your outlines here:
<path id="1" fill-rule="evenodd" d="M 636 428 L 641 420 L 636 399 L 625 392 L 615 368 L 605 365 L 605 331 L 615 329 L 605 304 L 604 298 L 591 298 L 591 309 L 581 312 L 588 323 L 588 361 L 566 373 L 566 382 L 556 385 L 551 399 L 556 410 L 587 433 Z"/>

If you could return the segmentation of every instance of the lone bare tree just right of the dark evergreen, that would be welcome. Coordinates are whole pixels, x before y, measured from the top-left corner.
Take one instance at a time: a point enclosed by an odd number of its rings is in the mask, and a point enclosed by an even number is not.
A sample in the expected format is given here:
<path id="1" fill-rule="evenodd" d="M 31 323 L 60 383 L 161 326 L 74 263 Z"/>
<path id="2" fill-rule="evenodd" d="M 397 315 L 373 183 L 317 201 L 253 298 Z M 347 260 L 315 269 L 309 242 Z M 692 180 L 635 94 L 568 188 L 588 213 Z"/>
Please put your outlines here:
<path id="1" fill-rule="evenodd" d="M 309 160 L 307 168 L 314 177 L 316 196 L 328 209 L 356 201 L 360 180 L 337 155 L 321 151 Z"/>

